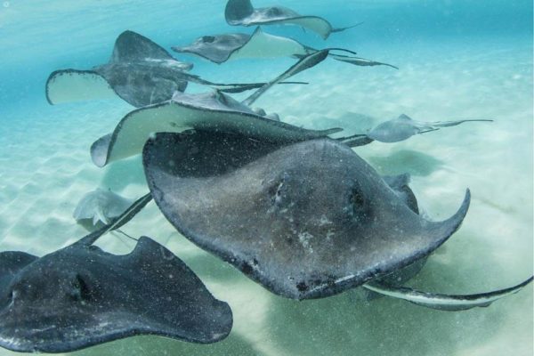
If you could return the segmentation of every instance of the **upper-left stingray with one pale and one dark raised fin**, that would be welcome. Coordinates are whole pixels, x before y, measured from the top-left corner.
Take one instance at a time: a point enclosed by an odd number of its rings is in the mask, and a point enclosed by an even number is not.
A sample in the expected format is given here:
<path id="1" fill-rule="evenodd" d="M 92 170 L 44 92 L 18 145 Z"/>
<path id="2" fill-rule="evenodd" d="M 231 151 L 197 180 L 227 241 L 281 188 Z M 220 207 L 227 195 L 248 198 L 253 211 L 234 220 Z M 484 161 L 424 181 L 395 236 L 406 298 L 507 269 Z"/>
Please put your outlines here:
<path id="1" fill-rule="evenodd" d="M 51 104 L 98 100 L 117 96 L 142 107 L 167 101 L 189 82 L 239 93 L 263 83 L 218 84 L 187 73 L 193 65 L 176 61 L 165 49 L 133 31 L 117 37 L 108 63 L 89 70 L 61 69 L 46 81 L 46 99 Z"/>

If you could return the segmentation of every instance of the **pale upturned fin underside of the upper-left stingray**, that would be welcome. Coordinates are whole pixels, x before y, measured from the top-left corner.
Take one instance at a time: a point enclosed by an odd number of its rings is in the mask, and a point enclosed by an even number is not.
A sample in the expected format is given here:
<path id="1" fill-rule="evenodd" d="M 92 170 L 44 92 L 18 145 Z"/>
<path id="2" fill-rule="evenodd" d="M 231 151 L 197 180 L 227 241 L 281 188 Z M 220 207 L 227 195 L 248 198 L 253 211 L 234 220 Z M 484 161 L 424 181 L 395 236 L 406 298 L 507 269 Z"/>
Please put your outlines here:
<path id="1" fill-rule="evenodd" d="M 52 105 L 115 98 L 117 93 L 104 77 L 93 70 L 56 70 L 46 81 L 46 100 Z"/>

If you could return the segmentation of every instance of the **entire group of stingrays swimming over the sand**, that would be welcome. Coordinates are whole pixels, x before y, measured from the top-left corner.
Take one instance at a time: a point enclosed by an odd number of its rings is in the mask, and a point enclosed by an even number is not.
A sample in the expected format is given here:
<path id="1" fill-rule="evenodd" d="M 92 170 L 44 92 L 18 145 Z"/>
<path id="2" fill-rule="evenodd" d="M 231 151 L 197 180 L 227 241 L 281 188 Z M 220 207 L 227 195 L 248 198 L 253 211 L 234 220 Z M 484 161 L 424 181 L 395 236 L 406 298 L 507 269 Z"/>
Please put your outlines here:
<path id="1" fill-rule="evenodd" d="M 225 16 L 231 25 L 294 24 L 324 38 L 345 29 L 285 7 L 255 9 L 248 0 L 230 0 Z M 369 297 L 388 295 L 461 311 L 488 306 L 532 280 L 476 295 L 402 287 L 460 227 L 469 190 L 448 220 L 427 221 L 419 215 L 408 174 L 380 176 L 352 150 L 484 120 L 424 123 L 401 115 L 367 133 L 331 138 L 342 129 L 288 125 L 252 104 L 272 85 L 298 83 L 284 81 L 328 57 L 356 65 L 384 63 L 343 49 L 350 55 L 315 50 L 260 28 L 252 36 L 202 36 L 174 50 L 216 63 L 257 53 L 298 61 L 268 83 L 216 84 L 188 73 L 191 64 L 175 60 L 150 39 L 125 31 L 108 63 L 53 72 L 46 84 L 52 104 L 118 96 L 138 108 L 93 143 L 91 156 L 96 166 L 106 166 L 142 154 L 150 192 L 130 201 L 96 190 L 82 199 L 75 217 L 100 220 L 104 225 L 98 230 L 43 257 L 0 253 L 0 346 L 69 352 L 141 334 L 201 344 L 228 336 L 230 306 L 215 299 L 166 247 L 147 237 L 136 239 L 129 255 L 93 246 L 151 199 L 185 238 L 287 298 L 322 298 L 364 287 Z M 184 93 L 189 82 L 214 91 Z M 255 92 L 244 101 L 229 94 L 247 90 Z"/>

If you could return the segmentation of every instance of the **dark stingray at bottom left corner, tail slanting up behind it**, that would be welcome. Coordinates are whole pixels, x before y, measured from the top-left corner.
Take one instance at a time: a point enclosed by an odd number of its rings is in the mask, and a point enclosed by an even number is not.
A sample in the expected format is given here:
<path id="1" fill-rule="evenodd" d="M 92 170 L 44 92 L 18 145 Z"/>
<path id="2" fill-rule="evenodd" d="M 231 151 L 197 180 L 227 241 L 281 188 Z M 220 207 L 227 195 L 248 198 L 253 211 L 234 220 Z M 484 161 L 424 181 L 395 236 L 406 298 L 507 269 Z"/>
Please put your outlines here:
<path id="1" fill-rule="evenodd" d="M 165 247 L 147 237 L 129 255 L 93 246 L 148 201 L 150 194 L 109 226 L 52 254 L 0 253 L 0 346 L 71 352 L 136 335 L 200 344 L 228 336 L 229 305 Z"/>

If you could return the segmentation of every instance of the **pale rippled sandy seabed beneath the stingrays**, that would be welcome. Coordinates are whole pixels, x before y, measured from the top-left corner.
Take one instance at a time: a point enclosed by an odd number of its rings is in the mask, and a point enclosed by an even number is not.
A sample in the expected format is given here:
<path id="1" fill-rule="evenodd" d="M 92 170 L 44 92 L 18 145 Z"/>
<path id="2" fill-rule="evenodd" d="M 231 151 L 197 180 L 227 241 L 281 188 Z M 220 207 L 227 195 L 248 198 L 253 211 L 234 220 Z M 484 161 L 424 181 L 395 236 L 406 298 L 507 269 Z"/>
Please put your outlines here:
<path id="1" fill-rule="evenodd" d="M 368 52 L 373 48 L 368 47 Z M 503 41 L 388 48 L 401 70 L 328 61 L 300 75 L 310 85 L 279 86 L 258 105 L 307 128 L 347 134 L 407 114 L 420 121 L 493 118 L 356 149 L 381 174 L 412 175 L 426 216 L 443 220 L 473 201 L 462 228 L 409 282 L 419 289 L 468 294 L 509 287 L 532 274 L 532 44 Z M 381 53 L 380 48 L 375 53 Z M 376 56 L 375 56 L 376 57 Z M 376 58 L 379 59 L 379 58 Z M 237 69 L 238 65 L 229 64 Z M 233 67 L 232 67 L 233 66 Z M 264 74 L 264 73 L 262 73 Z M 272 73 L 276 75 L 277 73 Z M 251 77 L 251 79 L 254 79 Z M 72 212 L 97 187 L 128 198 L 147 191 L 140 158 L 99 169 L 91 143 L 130 109 L 113 101 L 8 113 L 0 127 L 0 250 L 44 255 L 85 235 Z M 78 355 L 504 355 L 533 352 L 532 286 L 466 312 L 439 312 L 352 292 L 295 302 L 244 277 L 184 239 L 150 203 L 125 228 L 170 248 L 209 290 L 230 303 L 231 336 L 213 345 L 138 336 Z M 124 254 L 134 246 L 108 235 L 99 245 Z M 16 353 L 0 350 L 0 355 Z"/>

